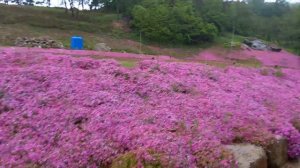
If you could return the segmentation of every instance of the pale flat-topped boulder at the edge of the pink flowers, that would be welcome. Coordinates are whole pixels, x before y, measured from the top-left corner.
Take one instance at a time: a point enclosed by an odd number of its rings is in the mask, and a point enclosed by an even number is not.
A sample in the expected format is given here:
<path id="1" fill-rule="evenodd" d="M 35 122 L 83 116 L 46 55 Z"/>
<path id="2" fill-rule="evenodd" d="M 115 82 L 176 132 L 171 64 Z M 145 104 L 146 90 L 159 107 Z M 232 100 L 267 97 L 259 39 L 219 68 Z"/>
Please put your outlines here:
<path id="1" fill-rule="evenodd" d="M 227 145 L 238 162 L 239 168 L 267 168 L 267 156 L 263 148 L 251 144 Z"/>

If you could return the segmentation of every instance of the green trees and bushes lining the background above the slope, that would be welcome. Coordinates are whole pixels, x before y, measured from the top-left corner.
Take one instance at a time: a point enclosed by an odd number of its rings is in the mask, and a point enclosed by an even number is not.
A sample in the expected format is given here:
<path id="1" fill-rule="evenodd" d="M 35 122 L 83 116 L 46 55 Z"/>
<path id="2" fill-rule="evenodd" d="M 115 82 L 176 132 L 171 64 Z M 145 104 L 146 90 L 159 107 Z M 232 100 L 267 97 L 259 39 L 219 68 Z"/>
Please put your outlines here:
<path id="1" fill-rule="evenodd" d="M 12 1 L 18 5 L 33 5 L 33 2 Z M 51 3 L 50 0 L 35 2 L 47 6 Z M 210 42 L 216 36 L 234 33 L 271 41 L 300 53 L 300 7 L 286 0 L 62 0 L 66 12 L 70 6 L 72 16 L 77 19 L 79 11 L 75 7 L 84 4 L 89 4 L 91 10 L 122 14 L 133 23 L 137 34 L 156 42 Z M 3 20 L 11 22 L 7 17 Z"/>

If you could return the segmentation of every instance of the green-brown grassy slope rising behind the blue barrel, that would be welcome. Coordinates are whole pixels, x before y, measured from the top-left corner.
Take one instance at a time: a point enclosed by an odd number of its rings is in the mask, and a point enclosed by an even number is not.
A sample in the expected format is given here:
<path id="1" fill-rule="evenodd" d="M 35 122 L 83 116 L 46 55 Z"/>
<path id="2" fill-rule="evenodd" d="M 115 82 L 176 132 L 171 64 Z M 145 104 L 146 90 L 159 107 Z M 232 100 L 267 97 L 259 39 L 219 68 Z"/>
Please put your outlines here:
<path id="1" fill-rule="evenodd" d="M 85 48 L 107 43 L 113 51 L 186 57 L 198 53 L 199 46 L 140 44 L 134 33 L 114 13 L 85 11 L 74 19 L 64 9 L 6 6 L 0 4 L 0 45 L 12 46 L 17 37 L 49 36 L 69 47 L 70 37 L 83 36 Z"/>

